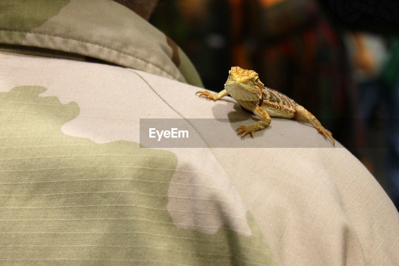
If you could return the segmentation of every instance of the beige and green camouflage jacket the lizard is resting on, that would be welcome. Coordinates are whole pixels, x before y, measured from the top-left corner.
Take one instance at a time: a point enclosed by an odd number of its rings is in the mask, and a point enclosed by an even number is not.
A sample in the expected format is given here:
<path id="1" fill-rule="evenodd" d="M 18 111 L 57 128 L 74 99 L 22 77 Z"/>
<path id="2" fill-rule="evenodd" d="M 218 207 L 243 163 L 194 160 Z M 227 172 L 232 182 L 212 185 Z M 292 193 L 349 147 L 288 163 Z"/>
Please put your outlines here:
<path id="1" fill-rule="evenodd" d="M 251 116 L 196 96 L 188 58 L 131 10 L 0 12 L 0 264 L 398 263 L 399 214 L 348 150 L 286 119 L 241 141 L 230 121 Z M 140 147 L 146 119 L 196 142 Z"/>

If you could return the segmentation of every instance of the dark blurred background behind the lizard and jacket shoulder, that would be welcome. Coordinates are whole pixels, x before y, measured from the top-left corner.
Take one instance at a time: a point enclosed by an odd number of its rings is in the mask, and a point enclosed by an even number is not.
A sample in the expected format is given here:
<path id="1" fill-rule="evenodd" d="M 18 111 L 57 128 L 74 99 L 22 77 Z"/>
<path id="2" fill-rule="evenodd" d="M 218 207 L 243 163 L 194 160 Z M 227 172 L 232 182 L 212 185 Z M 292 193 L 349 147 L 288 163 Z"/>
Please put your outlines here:
<path id="1" fill-rule="evenodd" d="M 395 22 L 321 0 L 159 0 L 150 22 L 186 52 L 206 89 L 221 91 L 240 66 L 303 105 L 399 208 Z"/>

